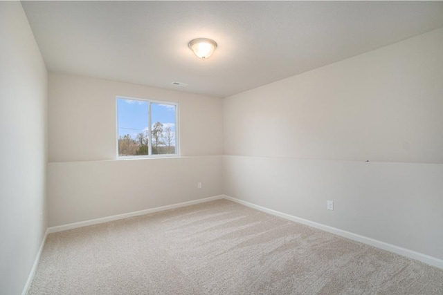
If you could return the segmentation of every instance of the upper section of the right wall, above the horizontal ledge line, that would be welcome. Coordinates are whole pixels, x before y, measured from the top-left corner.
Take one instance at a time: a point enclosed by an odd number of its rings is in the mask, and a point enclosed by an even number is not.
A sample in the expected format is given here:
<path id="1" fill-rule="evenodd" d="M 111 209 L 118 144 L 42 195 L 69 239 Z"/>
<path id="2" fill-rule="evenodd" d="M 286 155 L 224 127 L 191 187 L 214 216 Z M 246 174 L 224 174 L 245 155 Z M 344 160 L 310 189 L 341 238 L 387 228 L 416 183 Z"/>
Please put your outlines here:
<path id="1" fill-rule="evenodd" d="M 443 163 L 443 28 L 224 99 L 224 153 Z"/>

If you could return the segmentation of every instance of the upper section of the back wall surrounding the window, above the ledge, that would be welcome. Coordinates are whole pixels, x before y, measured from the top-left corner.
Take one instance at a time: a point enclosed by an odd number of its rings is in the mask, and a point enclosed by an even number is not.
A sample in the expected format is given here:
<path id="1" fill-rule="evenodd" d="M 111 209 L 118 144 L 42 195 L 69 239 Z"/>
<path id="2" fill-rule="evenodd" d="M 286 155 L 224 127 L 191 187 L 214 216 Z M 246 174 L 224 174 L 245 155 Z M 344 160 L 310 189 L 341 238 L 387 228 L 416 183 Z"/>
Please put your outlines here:
<path id="1" fill-rule="evenodd" d="M 181 155 L 223 153 L 220 98 L 50 73 L 49 161 L 115 159 L 116 96 L 178 102 Z"/>

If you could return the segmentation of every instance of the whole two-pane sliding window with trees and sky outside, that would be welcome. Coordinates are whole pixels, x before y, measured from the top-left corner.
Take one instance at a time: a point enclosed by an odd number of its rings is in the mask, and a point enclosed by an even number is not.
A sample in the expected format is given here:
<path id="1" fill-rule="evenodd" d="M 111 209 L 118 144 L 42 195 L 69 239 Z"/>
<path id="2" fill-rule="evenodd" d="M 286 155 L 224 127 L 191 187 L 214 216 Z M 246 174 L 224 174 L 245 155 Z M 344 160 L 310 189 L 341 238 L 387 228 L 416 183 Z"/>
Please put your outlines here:
<path id="1" fill-rule="evenodd" d="M 117 97 L 118 158 L 179 155 L 178 104 Z"/>

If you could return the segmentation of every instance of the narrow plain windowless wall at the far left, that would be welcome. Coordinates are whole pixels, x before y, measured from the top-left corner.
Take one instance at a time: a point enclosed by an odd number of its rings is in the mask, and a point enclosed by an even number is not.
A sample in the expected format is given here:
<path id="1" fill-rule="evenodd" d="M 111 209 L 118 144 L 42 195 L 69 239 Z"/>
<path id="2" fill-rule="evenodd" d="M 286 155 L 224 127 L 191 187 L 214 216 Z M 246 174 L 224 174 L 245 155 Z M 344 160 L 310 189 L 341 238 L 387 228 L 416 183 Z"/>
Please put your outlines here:
<path id="1" fill-rule="evenodd" d="M 19 1 L 0 40 L 0 294 L 21 294 L 46 231 L 46 68 Z"/>

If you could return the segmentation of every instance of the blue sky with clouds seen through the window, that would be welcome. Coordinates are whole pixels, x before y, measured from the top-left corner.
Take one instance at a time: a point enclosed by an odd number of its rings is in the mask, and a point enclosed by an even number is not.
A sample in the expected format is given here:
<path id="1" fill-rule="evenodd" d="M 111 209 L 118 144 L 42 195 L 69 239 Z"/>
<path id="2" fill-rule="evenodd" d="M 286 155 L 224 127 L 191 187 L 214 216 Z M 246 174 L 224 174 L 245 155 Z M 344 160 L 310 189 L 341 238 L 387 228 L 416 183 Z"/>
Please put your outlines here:
<path id="1" fill-rule="evenodd" d="M 125 134 L 135 138 L 138 133 L 145 133 L 148 122 L 148 102 L 136 99 L 117 99 L 118 137 Z M 170 126 L 175 131 L 175 106 L 151 103 L 152 124 L 161 122 L 164 127 Z"/>

